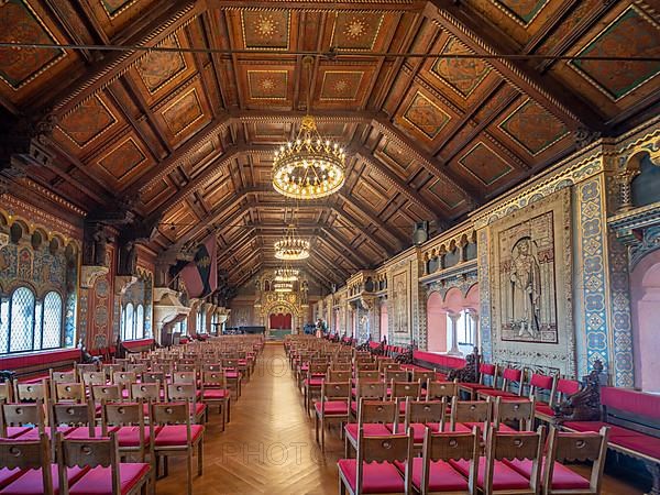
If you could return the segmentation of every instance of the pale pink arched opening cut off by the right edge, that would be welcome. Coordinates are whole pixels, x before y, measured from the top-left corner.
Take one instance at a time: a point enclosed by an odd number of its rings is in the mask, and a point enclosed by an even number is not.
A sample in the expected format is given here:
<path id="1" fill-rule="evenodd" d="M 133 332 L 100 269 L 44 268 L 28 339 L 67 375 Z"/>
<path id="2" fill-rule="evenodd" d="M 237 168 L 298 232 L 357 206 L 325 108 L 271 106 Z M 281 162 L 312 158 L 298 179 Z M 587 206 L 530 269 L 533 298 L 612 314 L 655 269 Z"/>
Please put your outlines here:
<path id="1" fill-rule="evenodd" d="M 630 274 L 635 385 L 660 392 L 660 251 L 647 254 Z"/>

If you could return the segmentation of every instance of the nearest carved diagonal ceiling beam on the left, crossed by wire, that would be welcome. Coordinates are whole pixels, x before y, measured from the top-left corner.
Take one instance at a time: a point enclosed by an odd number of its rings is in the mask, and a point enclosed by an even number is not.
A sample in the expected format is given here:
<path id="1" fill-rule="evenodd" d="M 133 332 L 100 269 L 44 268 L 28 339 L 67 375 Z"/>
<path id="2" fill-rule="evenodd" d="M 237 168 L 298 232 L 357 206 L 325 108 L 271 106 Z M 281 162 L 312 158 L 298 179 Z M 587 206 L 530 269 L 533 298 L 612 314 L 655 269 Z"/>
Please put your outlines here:
<path id="1" fill-rule="evenodd" d="M 184 0 L 176 2 L 174 6 L 175 9 L 169 9 L 161 15 L 148 19 L 143 25 L 138 23 L 132 26 L 134 28 L 133 33 L 128 35 L 125 40 L 121 40 L 122 44 L 154 46 L 198 15 L 206 3 L 199 0 Z M 120 77 L 144 54 L 143 51 L 113 52 L 96 64 L 89 74 L 80 78 L 76 87 L 65 87 L 59 91 L 64 96 L 52 105 L 53 113 L 62 116 L 73 110 L 77 103 L 90 98 L 100 88 Z"/>

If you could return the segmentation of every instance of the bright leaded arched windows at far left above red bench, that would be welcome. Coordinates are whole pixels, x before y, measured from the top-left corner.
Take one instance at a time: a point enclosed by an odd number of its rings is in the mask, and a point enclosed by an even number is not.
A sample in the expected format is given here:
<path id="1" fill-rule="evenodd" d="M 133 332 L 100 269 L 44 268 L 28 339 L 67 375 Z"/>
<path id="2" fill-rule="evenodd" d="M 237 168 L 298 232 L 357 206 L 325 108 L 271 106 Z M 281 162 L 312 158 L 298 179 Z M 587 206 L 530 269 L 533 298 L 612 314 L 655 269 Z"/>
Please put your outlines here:
<path id="1" fill-rule="evenodd" d="M 62 348 L 63 306 L 58 293 L 37 299 L 24 286 L 0 298 L 0 354 Z"/>

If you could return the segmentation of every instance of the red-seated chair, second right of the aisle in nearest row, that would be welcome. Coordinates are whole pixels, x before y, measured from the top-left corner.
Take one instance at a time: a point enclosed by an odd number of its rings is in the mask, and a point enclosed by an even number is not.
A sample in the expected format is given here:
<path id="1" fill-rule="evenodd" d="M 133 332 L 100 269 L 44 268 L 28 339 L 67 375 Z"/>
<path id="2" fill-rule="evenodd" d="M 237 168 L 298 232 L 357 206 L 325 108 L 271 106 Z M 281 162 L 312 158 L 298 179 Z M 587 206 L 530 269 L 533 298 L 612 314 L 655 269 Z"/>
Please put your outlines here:
<path id="1" fill-rule="evenodd" d="M 425 431 L 422 457 L 413 459 L 413 487 L 422 494 L 476 495 L 476 473 L 480 461 L 479 428 L 471 432 Z M 450 461 L 468 463 L 468 477 Z"/>

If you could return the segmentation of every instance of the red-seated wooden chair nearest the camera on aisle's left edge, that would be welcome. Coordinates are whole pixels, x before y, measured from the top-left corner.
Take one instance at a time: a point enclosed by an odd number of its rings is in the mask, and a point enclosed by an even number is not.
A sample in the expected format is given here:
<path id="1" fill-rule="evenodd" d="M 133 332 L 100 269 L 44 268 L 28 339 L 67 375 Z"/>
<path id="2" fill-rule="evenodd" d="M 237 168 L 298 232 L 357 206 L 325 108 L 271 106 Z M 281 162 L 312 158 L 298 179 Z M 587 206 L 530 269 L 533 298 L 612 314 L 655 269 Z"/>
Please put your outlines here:
<path id="1" fill-rule="evenodd" d="M 155 403 L 151 405 L 150 422 L 152 431 L 151 449 L 156 461 L 165 458 L 164 471 L 167 474 L 167 459 L 185 455 L 187 495 L 193 494 L 193 457 L 197 453 L 197 474 L 202 473 L 204 426 L 190 425 L 190 405 L 185 403 Z M 158 463 L 156 462 L 156 466 Z M 156 473 L 157 474 L 157 473 Z"/>

